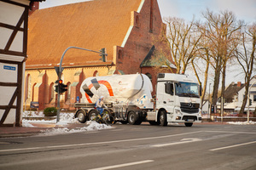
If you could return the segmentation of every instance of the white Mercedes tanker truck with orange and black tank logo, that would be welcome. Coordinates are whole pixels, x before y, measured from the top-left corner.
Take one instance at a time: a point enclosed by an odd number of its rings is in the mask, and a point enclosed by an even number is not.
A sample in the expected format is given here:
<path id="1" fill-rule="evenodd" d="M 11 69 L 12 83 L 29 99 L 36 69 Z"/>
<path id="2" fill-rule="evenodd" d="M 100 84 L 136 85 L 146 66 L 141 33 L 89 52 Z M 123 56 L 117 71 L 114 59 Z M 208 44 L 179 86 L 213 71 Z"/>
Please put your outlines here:
<path id="1" fill-rule="evenodd" d="M 201 87 L 195 79 L 160 73 L 154 97 L 152 91 L 152 83 L 144 74 L 88 77 L 80 87 L 82 98 L 75 104 L 75 117 L 81 123 L 92 120 L 98 114 L 96 100 L 103 96 L 116 122 L 161 126 L 183 122 L 187 127 L 201 122 Z"/>

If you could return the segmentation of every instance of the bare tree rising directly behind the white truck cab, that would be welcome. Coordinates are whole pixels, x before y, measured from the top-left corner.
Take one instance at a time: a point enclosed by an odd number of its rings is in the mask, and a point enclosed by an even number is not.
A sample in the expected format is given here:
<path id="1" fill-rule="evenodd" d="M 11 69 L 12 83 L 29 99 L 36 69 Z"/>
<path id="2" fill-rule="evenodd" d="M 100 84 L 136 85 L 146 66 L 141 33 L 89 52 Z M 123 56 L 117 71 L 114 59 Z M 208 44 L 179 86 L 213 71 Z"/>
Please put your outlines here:
<path id="1" fill-rule="evenodd" d="M 169 28 L 166 39 L 171 48 L 177 73 L 185 73 L 195 57 L 201 34 L 196 30 L 194 20 L 186 23 L 183 19 L 169 17 L 165 19 Z"/>

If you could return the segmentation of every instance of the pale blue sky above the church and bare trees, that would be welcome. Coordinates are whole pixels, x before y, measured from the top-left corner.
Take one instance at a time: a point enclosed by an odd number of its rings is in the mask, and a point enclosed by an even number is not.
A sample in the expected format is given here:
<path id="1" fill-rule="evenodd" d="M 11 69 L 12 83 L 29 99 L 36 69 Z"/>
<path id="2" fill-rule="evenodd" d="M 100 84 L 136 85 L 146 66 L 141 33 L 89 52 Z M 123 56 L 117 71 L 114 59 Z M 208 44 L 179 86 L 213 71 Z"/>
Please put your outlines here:
<path id="1" fill-rule="evenodd" d="M 67 3 L 80 3 L 88 0 L 46 0 L 39 8 L 49 8 Z M 158 0 L 162 17 L 178 17 L 190 21 L 203 20 L 202 12 L 209 8 L 214 13 L 229 10 L 236 14 L 237 20 L 245 20 L 251 24 L 256 22 L 256 0 Z M 228 68 L 226 86 L 231 82 L 244 82 L 244 76 L 239 71 L 239 65 Z M 210 79 L 209 82 L 213 82 Z"/>

